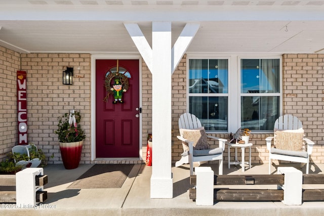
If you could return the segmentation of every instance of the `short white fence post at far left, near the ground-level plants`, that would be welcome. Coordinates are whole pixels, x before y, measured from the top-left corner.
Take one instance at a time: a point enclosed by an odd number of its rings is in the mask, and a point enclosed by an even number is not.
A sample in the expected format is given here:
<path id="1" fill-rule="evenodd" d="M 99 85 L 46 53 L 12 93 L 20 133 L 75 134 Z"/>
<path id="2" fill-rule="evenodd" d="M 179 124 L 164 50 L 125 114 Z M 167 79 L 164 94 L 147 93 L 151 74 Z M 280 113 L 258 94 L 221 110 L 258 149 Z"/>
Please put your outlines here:
<path id="1" fill-rule="evenodd" d="M 44 175 L 43 168 L 26 168 L 16 174 L 16 203 L 21 208 L 32 208 L 36 202 L 36 191 L 43 191 L 44 186 L 36 186 L 35 177 Z"/>

